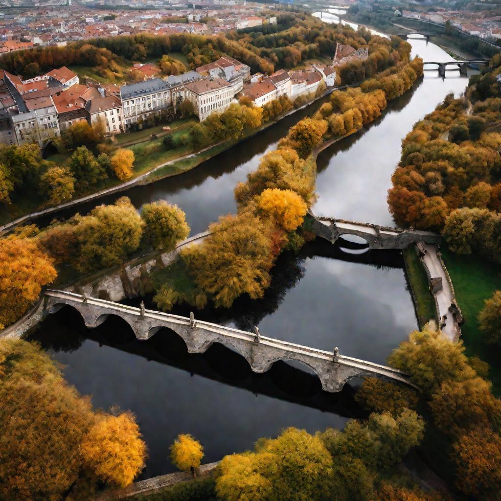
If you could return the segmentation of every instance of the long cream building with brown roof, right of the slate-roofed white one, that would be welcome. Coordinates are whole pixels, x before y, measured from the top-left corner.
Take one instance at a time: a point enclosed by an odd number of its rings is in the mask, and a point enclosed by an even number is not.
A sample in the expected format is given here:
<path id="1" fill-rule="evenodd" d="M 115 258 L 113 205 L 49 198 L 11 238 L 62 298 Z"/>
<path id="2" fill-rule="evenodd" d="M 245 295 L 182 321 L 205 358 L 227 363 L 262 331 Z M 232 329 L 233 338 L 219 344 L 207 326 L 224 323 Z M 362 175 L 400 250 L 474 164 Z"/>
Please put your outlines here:
<path id="1" fill-rule="evenodd" d="M 243 84 L 231 84 L 222 78 L 204 78 L 184 86 L 186 99 L 189 99 L 197 112 L 200 122 L 211 113 L 224 111 L 233 101 Z"/>

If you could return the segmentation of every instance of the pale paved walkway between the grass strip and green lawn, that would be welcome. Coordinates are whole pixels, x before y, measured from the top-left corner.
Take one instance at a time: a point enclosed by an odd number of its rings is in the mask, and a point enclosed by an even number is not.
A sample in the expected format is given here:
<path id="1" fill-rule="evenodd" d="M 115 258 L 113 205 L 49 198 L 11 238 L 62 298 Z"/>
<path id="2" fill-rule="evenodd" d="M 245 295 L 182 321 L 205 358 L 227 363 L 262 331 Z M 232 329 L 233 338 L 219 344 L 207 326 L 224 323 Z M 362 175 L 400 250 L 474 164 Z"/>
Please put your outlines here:
<path id="1" fill-rule="evenodd" d="M 427 251 L 423 259 L 424 263 L 428 267 L 431 277 L 440 277 L 442 279 L 442 290 L 435 294 L 438 304 L 438 316 L 442 319 L 443 315 L 447 315 L 447 318 L 445 319 L 445 326 L 442 327 L 442 334 L 450 341 L 456 341 L 458 334 L 457 325 L 454 321 L 452 313 L 449 311 L 449 306 L 454 302 L 454 293 L 445 270 L 437 256 L 437 246 L 424 242 L 422 246 L 423 249 Z"/>

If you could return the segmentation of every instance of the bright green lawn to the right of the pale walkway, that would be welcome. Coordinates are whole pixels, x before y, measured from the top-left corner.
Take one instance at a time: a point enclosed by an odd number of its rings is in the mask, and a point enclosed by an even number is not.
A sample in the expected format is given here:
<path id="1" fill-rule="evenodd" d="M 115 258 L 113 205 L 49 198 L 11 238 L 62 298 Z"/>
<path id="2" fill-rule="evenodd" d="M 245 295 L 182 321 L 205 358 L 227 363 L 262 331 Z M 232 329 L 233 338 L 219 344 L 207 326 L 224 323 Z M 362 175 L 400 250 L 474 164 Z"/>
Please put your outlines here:
<path id="1" fill-rule="evenodd" d="M 495 290 L 501 289 L 501 266 L 494 265 L 478 256 L 458 256 L 442 249 L 442 256 L 447 266 L 456 300 L 464 317 L 461 327 L 462 340 L 469 356 L 477 355 L 490 365 L 489 377 L 493 392 L 501 394 L 501 350 L 483 341 L 478 329 L 478 314 L 483 309 L 484 301 Z"/>

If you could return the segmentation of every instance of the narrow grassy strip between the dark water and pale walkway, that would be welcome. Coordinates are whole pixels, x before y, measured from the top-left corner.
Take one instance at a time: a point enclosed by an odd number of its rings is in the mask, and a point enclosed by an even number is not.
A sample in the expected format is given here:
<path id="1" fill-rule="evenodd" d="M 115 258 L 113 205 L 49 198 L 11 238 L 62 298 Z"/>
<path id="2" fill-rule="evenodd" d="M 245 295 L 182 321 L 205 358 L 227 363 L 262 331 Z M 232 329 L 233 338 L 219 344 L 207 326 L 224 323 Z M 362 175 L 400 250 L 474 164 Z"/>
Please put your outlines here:
<path id="1" fill-rule="evenodd" d="M 413 246 L 404 250 L 405 269 L 413 293 L 419 327 L 435 319 L 435 305 L 428 286 L 428 277 Z"/>

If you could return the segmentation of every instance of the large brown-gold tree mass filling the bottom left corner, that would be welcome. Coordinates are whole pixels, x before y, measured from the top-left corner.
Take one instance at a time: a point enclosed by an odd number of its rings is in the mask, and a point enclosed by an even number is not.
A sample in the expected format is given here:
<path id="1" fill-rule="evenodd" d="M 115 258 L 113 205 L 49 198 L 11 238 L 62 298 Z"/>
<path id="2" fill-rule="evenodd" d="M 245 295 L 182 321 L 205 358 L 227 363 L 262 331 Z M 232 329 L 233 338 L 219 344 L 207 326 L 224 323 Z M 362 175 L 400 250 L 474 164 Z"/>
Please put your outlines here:
<path id="1" fill-rule="evenodd" d="M 92 471 L 80 456 L 94 419 L 90 400 L 66 383 L 36 344 L 0 340 L 0 399 L 0 498 L 93 497 Z"/>

